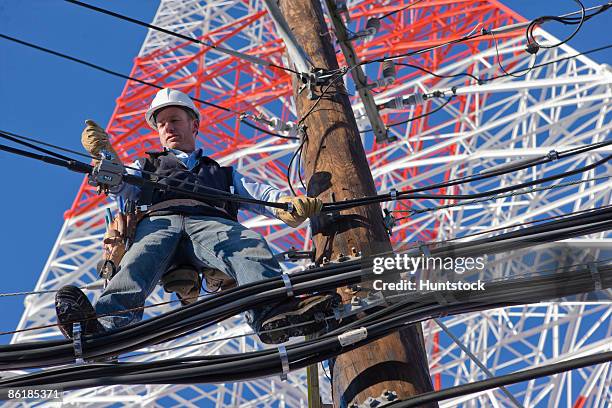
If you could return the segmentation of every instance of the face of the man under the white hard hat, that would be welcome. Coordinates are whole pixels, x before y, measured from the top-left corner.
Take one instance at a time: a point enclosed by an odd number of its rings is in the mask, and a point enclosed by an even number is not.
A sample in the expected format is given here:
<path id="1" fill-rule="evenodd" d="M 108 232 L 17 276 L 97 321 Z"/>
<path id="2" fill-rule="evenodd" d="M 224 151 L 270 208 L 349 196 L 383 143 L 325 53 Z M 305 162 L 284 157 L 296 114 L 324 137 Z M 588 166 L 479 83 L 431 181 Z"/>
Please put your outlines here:
<path id="1" fill-rule="evenodd" d="M 163 108 L 156 116 L 157 131 L 162 146 L 190 153 L 195 150 L 199 121 L 176 106 Z"/>

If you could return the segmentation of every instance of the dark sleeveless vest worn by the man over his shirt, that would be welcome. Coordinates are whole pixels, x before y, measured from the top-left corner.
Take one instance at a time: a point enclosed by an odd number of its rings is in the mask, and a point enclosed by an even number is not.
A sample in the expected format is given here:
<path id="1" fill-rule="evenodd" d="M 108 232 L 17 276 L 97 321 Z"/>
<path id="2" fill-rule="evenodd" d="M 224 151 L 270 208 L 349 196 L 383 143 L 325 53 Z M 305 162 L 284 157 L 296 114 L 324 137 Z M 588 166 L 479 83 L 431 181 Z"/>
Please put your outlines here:
<path id="1" fill-rule="evenodd" d="M 170 151 L 147 152 L 148 158 L 140 159 L 142 169 L 154 173 L 158 183 L 177 187 L 186 191 L 211 193 L 201 187 L 214 188 L 231 193 L 233 187 L 232 167 L 221 167 L 210 157 L 201 156 L 190 171 L 183 162 Z M 143 173 L 146 179 L 151 175 Z M 190 185 L 187 183 L 192 183 Z M 138 200 L 139 205 L 152 205 L 155 215 L 185 214 L 207 215 L 230 220 L 238 220 L 238 205 L 223 200 L 200 200 L 185 194 L 159 189 L 143 188 Z"/>

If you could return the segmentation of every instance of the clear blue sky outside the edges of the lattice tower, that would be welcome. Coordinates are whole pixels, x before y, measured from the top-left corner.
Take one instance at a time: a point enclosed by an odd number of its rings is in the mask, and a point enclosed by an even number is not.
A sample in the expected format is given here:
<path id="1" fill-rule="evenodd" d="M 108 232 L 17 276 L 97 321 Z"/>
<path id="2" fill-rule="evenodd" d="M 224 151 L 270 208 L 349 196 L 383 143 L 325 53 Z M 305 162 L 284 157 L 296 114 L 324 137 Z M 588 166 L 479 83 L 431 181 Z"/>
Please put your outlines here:
<path id="1" fill-rule="evenodd" d="M 113 11 L 151 21 L 150 0 L 90 1 Z M 587 1 L 593 6 L 603 1 Z M 528 18 L 575 9 L 573 1 L 506 1 Z M 609 43 L 612 12 L 585 24 L 572 40 L 577 50 Z M 129 73 L 146 30 L 60 0 L 0 0 L 0 32 Z M 545 27 L 557 36 L 568 28 Z M 612 51 L 591 55 L 612 61 Z M 105 125 L 124 81 L 99 71 L 0 39 L 0 129 L 81 150 L 85 119 Z M 0 152 L 2 193 L 0 293 L 31 290 L 74 200 L 82 177 L 61 168 Z M 0 297 L 0 331 L 12 330 L 23 311 L 22 297 Z M 0 339 L 7 343 L 8 336 Z"/>

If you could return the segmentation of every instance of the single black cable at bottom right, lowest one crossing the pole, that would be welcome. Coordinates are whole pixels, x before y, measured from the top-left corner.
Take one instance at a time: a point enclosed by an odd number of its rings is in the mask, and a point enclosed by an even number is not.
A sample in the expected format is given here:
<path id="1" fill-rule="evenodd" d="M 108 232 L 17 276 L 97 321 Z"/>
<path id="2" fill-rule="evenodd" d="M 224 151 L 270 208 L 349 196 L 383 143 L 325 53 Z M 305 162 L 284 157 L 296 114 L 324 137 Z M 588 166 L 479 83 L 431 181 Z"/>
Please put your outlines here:
<path id="1" fill-rule="evenodd" d="M 403 401 L 393 402 L 389 407 L 409 408 L 422 407 L 434 401 L 443 401 L 449 398 L 461 397 L 481 391 L 498 388 L 505 385 L 516 384 L 523 381 L 535 380 L 537 378 L 559 374 L 565 371 L 576 370 L 597 364 L 612 361 L 612 351 L 593 354 L 590 356 L 573 358 L 560 363 L 546 364 L 542 367 L 531 368 L 512 374 L 495 376 L 486 380 L 475 381 L 470 384 L 458 385 L 440 391 L 426 392 L 416 397 L 408 398 Z"/>

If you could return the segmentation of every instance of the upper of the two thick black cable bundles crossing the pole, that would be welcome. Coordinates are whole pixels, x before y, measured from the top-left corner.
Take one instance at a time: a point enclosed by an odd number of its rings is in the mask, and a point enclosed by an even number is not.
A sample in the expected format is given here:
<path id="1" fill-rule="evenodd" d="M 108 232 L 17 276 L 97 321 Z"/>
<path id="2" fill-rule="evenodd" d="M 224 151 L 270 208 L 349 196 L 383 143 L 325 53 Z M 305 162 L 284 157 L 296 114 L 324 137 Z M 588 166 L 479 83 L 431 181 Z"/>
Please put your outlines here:
<path id="1" fill-rule="evenodd" d="M 452 255 L 454 257 L 482 253 L 494 254 L 533 246 L 538 243 L 568 239 L 609 229 L 612 226 L 611 213 L 612 211 L 609 209 L 595 211 L 497 237 L 432 248 L 431 252 L 435 256 Z M 417 256 L 416 252 L 412 251 L 411 253 Z M 371 272 L 372 259 L 366 257 L 292 274 L 291 280 L 294 292 L 296 295 L 300 295 L 359 283 L 364 278 L 367 279 L 368 276 L 375 276 Z M 368 264 L 370 265 L 369 269 Z M 612 276 L 610 279 L 612 279 Z M 560 296 L 559 292 L 555 293 Z M 280 278 L 271 278 L 229 289 L 224 293 L 209 296 L 181 309 L 128 326 L 119 332 L 106 333 L 102 336 L 103 338 L 86 336 L 84 355 L 86 358 L 113 355 L 167 341 L 180 333 L 199 330 L 259 304 L 268 304 L 273 299 L 285 297 L 286 288 Z M 25 353 L 26 350 L 27 353 Z M 73 358 L 71 357 L 71 350 L 68 341 L 0 346 L 0 368 L 23 368 L 32 366 L 33 362 L 36 362 L 35 366 L 61 364 L 67 362 L 66 359 L 71 361 Z M 21 356 L 18 360 L 15 359 L 13 351 Z"/>

